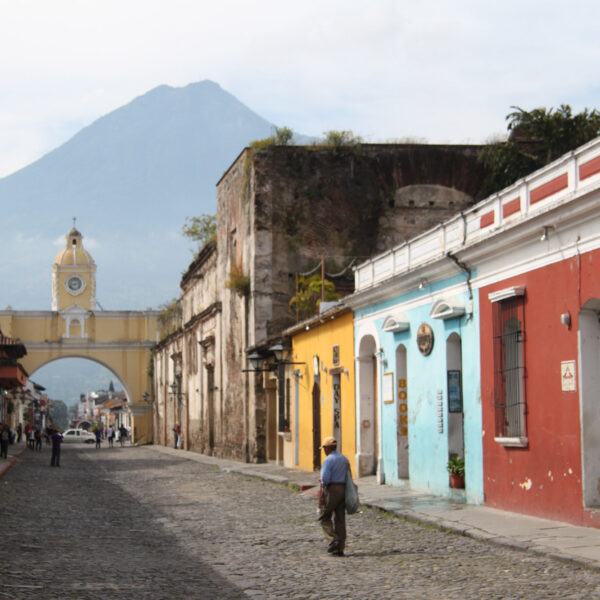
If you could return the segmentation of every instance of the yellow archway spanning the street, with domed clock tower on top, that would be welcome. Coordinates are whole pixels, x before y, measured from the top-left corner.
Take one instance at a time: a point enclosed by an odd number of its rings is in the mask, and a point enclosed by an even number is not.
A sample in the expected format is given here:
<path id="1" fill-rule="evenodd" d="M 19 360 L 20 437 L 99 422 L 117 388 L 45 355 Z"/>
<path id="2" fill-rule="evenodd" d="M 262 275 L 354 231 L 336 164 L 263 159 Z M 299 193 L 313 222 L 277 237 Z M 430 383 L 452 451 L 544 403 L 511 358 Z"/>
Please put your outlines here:
<path id="1" fill-rule="evenodd" d="M 61 358 L 87 358 L 106 367 L 127 394 L 133 442 L 152 442 L 150 365 L 159 313 L 98 310 L 96 264 L 77 229 L 65 237 L 52 266 L 52 310 L 2 310 L 0 330 L 25 344 L 21 363 L 30 376 Z"/>

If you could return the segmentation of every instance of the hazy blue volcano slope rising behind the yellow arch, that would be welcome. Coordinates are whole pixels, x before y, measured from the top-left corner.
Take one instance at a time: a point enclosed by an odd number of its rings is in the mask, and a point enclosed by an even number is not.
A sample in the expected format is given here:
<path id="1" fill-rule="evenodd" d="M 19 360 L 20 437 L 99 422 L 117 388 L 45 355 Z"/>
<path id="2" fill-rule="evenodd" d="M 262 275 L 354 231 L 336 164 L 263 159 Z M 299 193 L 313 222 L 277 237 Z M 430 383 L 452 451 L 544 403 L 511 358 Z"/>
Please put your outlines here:
<path id="1" fill-rule="evenodd" d="M 98 119 L 35 163 L 0 179 L 6 252 L 0 307 L 50 308 L 50 273 L 77 217 L 98 265 L 105 308 L 175 296 L 191 259 L 188 215 L 213 213 L 215 184 L 272 125 L 218 84 L 157 87 Z M 53 243 L 54 242 L 54 243 Z"/>

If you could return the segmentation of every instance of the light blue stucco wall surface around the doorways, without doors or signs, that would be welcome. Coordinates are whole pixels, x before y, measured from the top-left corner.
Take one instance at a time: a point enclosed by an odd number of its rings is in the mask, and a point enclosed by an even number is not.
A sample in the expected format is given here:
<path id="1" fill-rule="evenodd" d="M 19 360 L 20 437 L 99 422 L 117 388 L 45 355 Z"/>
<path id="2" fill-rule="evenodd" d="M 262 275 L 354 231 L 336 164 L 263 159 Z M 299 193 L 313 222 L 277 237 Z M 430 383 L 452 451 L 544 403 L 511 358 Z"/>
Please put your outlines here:
<path id="1" fill-rule="evenodd" d="M 446 340 L 452 333 L 460 336 L 462 345 L 462 385 L 464 415 L 464 458 L 466 463 L 466 496 L 470 502 L 483 501 L 481 402 L 479 377 L 479 324 L 478 305 L 475 299 L 473 314 L 448 320 L 430 316 L 433 303 L 447 296 L 466 307 L 468 292 L 462 286 L 463 276 L 457 276 L 423 290 L 416 290 L 401 297 L 374 304 L 355 313 L 355 352 L 365 335 L 376 332 L 379 347 L 383 350 L 377 376 L 377 405 L 381 422 L 381 457 L 383 477 L 386 483 L 409 485 L 411 489 L 423 490 L 441 496 L 450 496 L 446 463 L 449 457 L 449 413 L 447 389 Z M 458 286 L 458 288 L 456 287 Z M 409 328 L 401 332 L 385 332 L 383 322 L 389 315 L 402 312 Z M 416 342 L 417 329 L 427 323 L 434 337 L 431 353 L 423 355 Z M 400 481 L 398 473 L 398 373 L 396 351 L 400 345 L 406 348 L 409 480 Z M 385 361 L 387 364 L 382 364 Z M 381 388 L 384 373 L 394 374 L 394 402 L 383 403 Z M 358 393 L 358 392 L 357 392 Z M 441 431 L 438 428 L 438 403 L 441 401 Z M 367 418 L 365 415 L 360 417 Z"/>

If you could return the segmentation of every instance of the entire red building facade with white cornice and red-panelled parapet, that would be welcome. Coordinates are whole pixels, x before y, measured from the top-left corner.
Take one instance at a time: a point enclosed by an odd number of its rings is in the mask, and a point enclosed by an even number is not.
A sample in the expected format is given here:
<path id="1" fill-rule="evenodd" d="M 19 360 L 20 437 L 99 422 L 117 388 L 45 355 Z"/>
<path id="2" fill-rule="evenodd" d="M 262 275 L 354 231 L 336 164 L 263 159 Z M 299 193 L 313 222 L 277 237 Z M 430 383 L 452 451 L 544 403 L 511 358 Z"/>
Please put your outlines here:
<path id="1" fill-rule="evenodd" d="M 478 272 L 485 504 L 595 527 L 599 152 L 596 140 L 516 186 L 521 214 Z M 514 207 L 508 198 L 498 212 Z"/>

